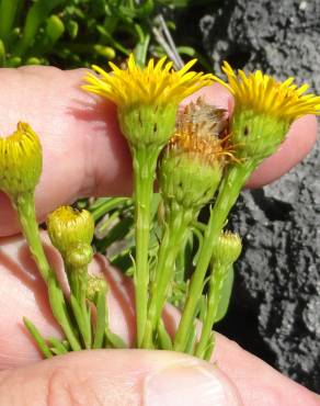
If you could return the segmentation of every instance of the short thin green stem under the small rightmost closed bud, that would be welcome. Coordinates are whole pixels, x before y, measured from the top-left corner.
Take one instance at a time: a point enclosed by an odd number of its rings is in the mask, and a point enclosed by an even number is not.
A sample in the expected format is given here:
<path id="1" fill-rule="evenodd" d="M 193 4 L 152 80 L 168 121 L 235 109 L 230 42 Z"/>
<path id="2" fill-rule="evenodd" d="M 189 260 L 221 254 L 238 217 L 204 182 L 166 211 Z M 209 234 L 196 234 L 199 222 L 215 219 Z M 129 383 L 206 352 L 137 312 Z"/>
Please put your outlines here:
<path id="1" fill-rule="evenodd" d="M 207 312 L 203 323 L 201 338 L 196 345 L 195 356 L 198 358 L 204 358 L 207 353 L 207 348 L 209 345 L 209 339 L 212 336 L 213 326 L 215 324 L 219 300 L 221 295 L 221 289 L 224 284 L 224 277 L 226 275 L 226 268 L 219 264 L 215 266 L 213 269 L 213 274 L 209 281 L 209 293 L 207 302 Z M 213 349 L 212 349 L 213 350 Z"/>

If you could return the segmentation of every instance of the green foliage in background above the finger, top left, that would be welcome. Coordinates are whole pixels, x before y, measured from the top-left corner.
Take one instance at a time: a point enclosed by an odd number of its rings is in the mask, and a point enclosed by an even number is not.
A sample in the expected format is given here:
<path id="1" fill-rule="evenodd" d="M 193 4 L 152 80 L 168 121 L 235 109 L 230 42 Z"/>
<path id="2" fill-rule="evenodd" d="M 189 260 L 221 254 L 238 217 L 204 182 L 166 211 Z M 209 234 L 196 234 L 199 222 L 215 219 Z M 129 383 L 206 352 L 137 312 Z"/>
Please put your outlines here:
<path id="1" fill-rule="evenodd" d="M 134 52 L 139 64 L 160 50 L 152 35 L 163 9 L 188 0 L 0 0 L 0 67 L 105 65 Z M 170 22 L 168 22 L 170 25 Z M 172 25 L 172 24 L 171 24 Z M 196 54 L 187 47 L 183 54 Z"/>

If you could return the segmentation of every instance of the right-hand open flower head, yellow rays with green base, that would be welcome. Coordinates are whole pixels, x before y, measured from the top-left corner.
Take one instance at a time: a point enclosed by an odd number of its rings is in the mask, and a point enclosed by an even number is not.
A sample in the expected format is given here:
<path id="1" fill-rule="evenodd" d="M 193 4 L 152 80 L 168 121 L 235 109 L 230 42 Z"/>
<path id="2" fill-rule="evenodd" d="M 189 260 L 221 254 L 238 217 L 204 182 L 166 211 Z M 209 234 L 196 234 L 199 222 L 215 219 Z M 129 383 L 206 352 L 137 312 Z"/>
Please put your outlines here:
<path id="1" fill-rule="evenodd" d="M 294 120 L 305 114 L 320 114 L 320 98 L 304 94 L 307 84 L 298 88 L 294 78 L 278 82 L 261 70 L 245 75 L 235 74 L 224 63 L 226 83 L 215 77 L 235 97 L 235 112 L 230 122 L 230 140 L 240 159 L 253 159 L 255 165 L 272 155 L 289 129 Z"/>

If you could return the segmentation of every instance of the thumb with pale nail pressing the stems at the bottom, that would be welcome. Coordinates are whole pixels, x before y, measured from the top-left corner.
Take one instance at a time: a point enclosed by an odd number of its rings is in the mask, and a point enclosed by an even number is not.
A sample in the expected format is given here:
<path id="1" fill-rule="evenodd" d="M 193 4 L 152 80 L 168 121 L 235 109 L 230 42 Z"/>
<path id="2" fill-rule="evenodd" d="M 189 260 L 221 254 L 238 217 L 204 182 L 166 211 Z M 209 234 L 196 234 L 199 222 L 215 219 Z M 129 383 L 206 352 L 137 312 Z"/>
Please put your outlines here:
<path id="1" fill-rule="evenodd" d="M 12 388 L 14 387 L 14 391 Z M 0 374 L 0 404 L 90 406 L 240 406 L 217 368 L 165 351 L 69 353 Z"/>

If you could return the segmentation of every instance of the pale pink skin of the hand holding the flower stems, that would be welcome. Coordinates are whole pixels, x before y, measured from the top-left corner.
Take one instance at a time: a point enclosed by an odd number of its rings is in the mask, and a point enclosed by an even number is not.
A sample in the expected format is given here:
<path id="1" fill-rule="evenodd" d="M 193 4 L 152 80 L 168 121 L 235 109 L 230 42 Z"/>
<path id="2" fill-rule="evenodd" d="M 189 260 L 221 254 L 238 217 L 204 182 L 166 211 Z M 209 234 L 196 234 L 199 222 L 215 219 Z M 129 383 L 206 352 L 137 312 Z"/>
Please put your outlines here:
<path id="1" fill-rule="evenodd" d="M 18 121 L 26 121 L 42 138 L 44 172 L 36 190 L 39 221 L 58 205 L 81 196 L 132 192 L 130 157 L 118 131 L 115 108 L 84 93 L 79 88 L 82 77 L 83 70 L 50 67 L 0 70 L 1 135 L 11 134 Z M 198 94 L 232 110 L 232 98 L 218 84 Z M 286 142 L 253 173 L 249 187 L 270 183 L 287 172 L 311 149 L 316 134 L 313 116 L 294 123 Z M 318 395 L 220 335 L 212 363 L 146 350 L 81 351 L 39 361 L 39 353 L 22 327 L 22 317 L 33 320 L 44 336 L 60 337 L 60 330 L 48 308 L 45 285 L 19 235 L 15 214 L 3 194 L 0 237 L 1 405 L 165 406 L 192 405 L 202 399 L 201 405 L 218 406 L 320 406 Z M 47 244 L 45 234 L 43 238 L 52 264 L 61 271 L 57 251 Z M 135 319 L 130 280 L 101 256 L 94 259 L 91 272 L 107 279 L 112 328 L 132 342 Z M 178 312 L 168 307 L 165 320 L 174 330 Z"/>

